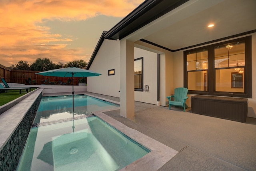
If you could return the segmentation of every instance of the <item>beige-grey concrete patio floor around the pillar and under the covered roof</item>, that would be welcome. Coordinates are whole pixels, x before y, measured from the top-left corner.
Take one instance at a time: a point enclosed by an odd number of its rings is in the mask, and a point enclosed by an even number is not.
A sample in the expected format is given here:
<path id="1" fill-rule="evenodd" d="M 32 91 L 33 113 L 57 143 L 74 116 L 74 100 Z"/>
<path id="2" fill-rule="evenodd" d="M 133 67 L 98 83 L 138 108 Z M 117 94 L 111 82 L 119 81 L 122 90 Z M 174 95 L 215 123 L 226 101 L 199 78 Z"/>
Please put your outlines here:
<path id="1" fill-rule="evenodd" d="M 120 101 L 96 93 L 86 94 Z M 249 170 L 256 168 L 256 118 L 246 123 L 191 113 L 191 109 L 156 106 L 135 102 L 132 120 L 120 116 L 120 110 L 106 115 L 128 127 L 179 151 L 161 167 L 167 170 Z"/>

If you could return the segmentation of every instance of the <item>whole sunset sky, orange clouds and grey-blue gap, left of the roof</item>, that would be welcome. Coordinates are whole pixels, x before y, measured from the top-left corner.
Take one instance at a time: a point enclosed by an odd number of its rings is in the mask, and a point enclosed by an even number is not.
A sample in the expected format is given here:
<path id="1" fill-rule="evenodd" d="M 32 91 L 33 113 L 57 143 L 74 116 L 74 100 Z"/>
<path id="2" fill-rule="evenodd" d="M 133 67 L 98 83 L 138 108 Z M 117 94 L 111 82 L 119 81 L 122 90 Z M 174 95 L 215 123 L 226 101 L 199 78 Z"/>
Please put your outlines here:
<path id="1" fill-rule="evenodd" d="M 0 0 L 0 64 L 88 62 L 108 31 L 144 0 Z"/>

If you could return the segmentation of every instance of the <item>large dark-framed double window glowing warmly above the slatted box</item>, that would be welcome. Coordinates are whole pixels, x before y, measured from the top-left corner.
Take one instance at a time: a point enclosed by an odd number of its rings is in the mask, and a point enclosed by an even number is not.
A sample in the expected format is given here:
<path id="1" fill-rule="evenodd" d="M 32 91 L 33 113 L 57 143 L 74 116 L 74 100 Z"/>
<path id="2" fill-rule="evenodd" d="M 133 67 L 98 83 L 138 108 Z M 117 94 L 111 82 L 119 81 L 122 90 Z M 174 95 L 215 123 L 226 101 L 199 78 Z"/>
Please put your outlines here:
<path id="1" fill-rule="evenodd" d="M 188 93 L 252 97 L 251 36 L 184 51 Z"/>

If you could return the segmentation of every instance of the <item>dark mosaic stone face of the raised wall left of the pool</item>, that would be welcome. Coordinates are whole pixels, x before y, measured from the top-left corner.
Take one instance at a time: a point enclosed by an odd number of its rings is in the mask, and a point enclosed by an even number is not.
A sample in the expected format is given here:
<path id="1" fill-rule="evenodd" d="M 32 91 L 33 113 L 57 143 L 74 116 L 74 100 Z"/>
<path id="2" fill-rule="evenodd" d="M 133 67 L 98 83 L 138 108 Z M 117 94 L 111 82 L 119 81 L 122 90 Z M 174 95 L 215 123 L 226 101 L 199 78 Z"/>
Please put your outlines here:
<path id="1" fill-rule="evenodd" d="M 26 114 L 18 124 L 17 128 L 1 148 L 0 171 L 16 170 L 41 99 L 42 91 L 37 97 L 35 97 L 34 103 L 32 103 L 30 108 L 26 111 Z M 19 112 L 20 111 L 17 110 L 17 113 Z"/>

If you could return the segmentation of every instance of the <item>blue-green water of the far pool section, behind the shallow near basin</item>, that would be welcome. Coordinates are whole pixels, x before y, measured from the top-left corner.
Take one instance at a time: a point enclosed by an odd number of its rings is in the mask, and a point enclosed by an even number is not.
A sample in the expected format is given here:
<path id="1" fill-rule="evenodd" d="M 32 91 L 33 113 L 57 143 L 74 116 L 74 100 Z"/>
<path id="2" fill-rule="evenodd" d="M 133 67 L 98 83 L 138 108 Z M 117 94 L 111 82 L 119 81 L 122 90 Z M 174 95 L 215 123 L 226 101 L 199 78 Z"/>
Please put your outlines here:
<path id="1" fill-rule="evenodd" d="M 74 95 L 74 117 L 92 111 L 120 107 L 87 95 Z M 73 117 L 72 95 L 42 97 L 34 123 L 50 122 Z"/>

